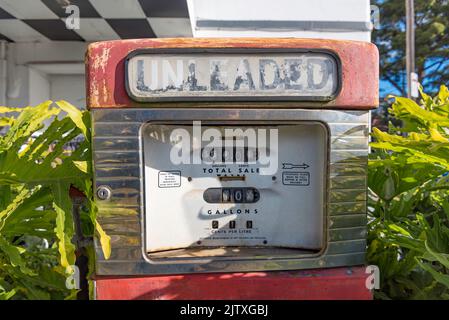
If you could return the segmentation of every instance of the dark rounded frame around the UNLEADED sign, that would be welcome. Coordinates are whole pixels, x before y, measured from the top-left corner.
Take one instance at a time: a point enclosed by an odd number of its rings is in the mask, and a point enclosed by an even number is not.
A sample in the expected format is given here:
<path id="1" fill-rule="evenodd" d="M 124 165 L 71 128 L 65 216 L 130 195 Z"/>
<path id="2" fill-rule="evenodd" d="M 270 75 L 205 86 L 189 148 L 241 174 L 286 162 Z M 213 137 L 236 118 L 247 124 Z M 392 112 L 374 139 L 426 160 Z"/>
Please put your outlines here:
<path id="1" fill-rule="evenodd" d="M 330 96 L 285 96 L 285 95 L 267 95 L 267 96 L 174 96 L 174 97 L 138 97 L 135 96 L 129 84 L 129 65 L 130 60 L 138 55 L 149 54 L 324 54 L 330 56 L 336 65 L 336 88 Z M 125 90 L 131 100 L 138 103 L 151 102 L 265 102 L 265 101 L 290 101 L 290 102 L 330 102 L 335 100 L 341 93 L 343 87 L 342 62 L 339 55 L 329 49 L 303 49 L 303 48 L 145 48 L 131 51 L 125 58 Z"/>

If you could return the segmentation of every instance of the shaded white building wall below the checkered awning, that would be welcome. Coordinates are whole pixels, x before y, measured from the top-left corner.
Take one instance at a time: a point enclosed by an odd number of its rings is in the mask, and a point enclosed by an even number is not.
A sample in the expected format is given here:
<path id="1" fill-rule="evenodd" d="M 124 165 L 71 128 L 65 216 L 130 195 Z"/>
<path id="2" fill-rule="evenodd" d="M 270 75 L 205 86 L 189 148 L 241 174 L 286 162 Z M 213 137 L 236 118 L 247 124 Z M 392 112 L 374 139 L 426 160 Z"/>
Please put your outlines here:
<path id="1" fill-rule="evenodd" d="M 86 48 L 84 42 L 8 44 L 4 104 L 24 107 L 67 100 L 84 109 Z"/>

